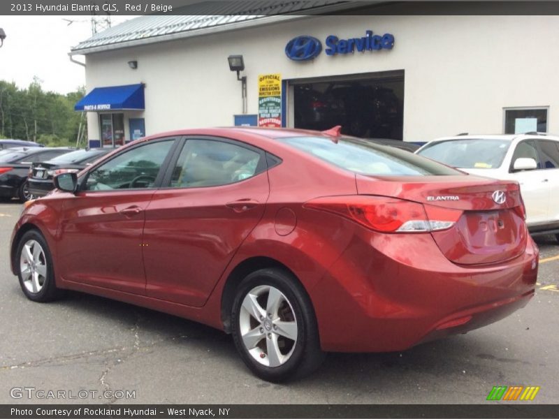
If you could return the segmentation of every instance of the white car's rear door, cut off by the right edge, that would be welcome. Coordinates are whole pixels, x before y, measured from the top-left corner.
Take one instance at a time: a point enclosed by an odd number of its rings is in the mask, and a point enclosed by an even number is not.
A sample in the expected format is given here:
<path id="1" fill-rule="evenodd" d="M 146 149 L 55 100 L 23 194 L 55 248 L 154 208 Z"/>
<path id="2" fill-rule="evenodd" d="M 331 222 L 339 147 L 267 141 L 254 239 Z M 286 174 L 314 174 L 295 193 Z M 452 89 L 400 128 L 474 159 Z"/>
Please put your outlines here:
<path id="1" fill-rule="evenodd" d="M 559 228 L 559 141 L 537 140 L 544 177 L 542 182 L 548 184 L 549 200 L 547 220 L 558 223 Z"/>

